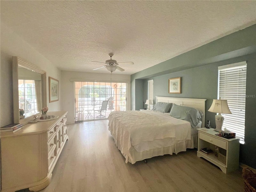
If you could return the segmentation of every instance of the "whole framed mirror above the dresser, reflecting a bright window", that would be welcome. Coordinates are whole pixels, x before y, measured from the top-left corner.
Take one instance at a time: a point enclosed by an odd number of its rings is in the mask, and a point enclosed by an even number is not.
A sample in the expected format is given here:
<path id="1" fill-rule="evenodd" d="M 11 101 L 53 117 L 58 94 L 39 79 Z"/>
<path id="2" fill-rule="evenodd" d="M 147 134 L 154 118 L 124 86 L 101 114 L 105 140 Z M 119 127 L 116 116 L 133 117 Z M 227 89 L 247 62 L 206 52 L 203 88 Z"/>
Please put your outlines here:
<path id="1" fill-rule="evenodd" d="M 41 114 L 46 102 L 46 72 L 12 57 L 14 123 L 27 124 Z"/>

